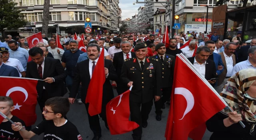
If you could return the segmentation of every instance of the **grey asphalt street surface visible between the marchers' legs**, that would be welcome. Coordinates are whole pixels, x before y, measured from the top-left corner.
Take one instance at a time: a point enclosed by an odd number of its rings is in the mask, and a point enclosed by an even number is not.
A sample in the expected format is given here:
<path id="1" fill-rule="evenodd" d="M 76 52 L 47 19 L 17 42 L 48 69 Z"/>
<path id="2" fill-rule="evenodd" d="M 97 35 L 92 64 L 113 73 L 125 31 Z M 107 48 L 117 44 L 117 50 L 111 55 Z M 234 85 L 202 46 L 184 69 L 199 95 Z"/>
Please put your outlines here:
<path id="1" fill-rule="evenodd" d="M 117 92 L 114 89 L 114 94 L 117 96 Z M 65 96 L 68 96 L 66 94 Z M 164 133 L 165 133 L 165 128 L 166 128 L 166 122 L 168 118 L 168 111 L 169 111 L 168 105 L 166 105 L 165 109 L 163 110 L 162 113 L 162 120 L 157 121 L 155 119 L 155 107 L 154 105 L 152 106 L 152 110 L 149 114 L 148 118 L 148 127 L 143 128 L 142 132 L 142 140 L 165 140 L 164 138 Z M 42 121 L 42 115 L 39 106 L 37 105 L 36 107 L 36 114 L 37 114 L 37 121 L 36 123 L 32 126 L 34 128 L 37 124 L 39 124 Z M 78 131 L 80 132 L 83 140 L 92 140 L 93 138 L 93 133 L 90 130 L 89 127 L 89 122 L 88 122 L 88 116 L 87 112 L 85 109 L 84 104 L 72 104 L 70 106 L 70 111 L 67 114 L 67 118 L 69 121 L 71 121 L 77 128 Z M 132 140 L 132 132 L 128 132 L 126 134 L 120 134 L 120 135 L 111 135 L 109 130 L 106 129 L 104 125 L 104 121 L 100 118 L 100 125 L 102 128 L 102 137 L 100 140 Z M 206 130 L 204 137 L 202 140 L 209 140 L 211 136 L 211 132 Z M 42 140 L 43 139 L 43 134 L 40 136 L 34 136 L 31 138 L 31 140 Z M 191 140 L 190 138 L 188 140 Z"/>

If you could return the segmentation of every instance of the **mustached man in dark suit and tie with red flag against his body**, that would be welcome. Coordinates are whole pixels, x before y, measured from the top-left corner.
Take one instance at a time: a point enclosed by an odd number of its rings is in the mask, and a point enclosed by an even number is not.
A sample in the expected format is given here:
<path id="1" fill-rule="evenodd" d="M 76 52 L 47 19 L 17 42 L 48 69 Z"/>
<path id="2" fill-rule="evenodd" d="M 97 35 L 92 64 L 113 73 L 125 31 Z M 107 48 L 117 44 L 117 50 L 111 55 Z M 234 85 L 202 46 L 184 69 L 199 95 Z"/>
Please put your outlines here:
<path id="1" fill-rule="evenodd" d="M 94 138 L 92 140 L 99 140 L 101 137 L 99 117 L 98 115 L 90 116 L 88 112 L 89 104 L 85 103 L 85 99 L 87 95 L 88 86 L 92 78 L 92 72 L 98 62 L 98 56 L 100 54 L 100 46 L 98 44 L 93 44 L 93 43 L 89 44 L 87 46 L 87 54 L 89 59 L 76 64 L 76 71 L 74 72 L 73 86 L 68 99 L 71 104 L 74 103 L 74 100 L 76 98 L 76 93 L 78 92 L 78 87 L 81 83 L 82 84 L 81 99 L 82 99 L 82 102 L 85 104 L 90 128 L 94 133 Z M 106 104 L 112 98 L 114 98 L 114 92 L 110 84 L 110 80 L 115 81 L 117 80 L 118 77 L 116 75 L 116 70 L 111 60 L 104 59 L 104 67 L 105 67 L 106 80 L 103 85 L 102 110 L 100 113 L 100 117 L 102 117 L 102 120 L 104 120 L 106 128 L 109 129 L 107 120 L 106 120 Z M 99 86 L 102 86 L 102 85 L 99 85 Z"/>

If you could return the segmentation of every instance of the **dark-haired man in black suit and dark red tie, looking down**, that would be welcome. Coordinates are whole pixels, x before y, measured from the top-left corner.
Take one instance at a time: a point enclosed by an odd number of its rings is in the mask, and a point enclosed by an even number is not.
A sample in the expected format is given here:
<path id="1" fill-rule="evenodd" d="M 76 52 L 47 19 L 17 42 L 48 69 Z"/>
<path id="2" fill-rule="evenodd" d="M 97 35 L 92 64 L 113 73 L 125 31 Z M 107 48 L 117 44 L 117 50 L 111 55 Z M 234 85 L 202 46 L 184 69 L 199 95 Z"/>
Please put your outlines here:
<path id="1" fill-rule="evenodd" d="M 36 90 L 38 104 L 41 111 L 43 111 L 44 103 L 47 99 L 64 96 L 68 92 L 64 84 L 67 74 L 60 60 L 45 57 L 41 48 L 33 47 L 28 53 L 32 61 L 27 64 L 26 78 L 40 79 Z"/>

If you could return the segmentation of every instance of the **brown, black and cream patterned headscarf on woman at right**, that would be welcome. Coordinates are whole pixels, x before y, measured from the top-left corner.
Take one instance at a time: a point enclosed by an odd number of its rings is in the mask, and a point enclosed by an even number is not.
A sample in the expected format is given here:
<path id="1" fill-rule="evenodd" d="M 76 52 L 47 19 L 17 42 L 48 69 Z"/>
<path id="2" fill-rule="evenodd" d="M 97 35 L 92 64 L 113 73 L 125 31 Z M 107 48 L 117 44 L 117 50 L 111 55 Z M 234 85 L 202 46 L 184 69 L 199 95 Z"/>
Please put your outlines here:
<path id="1" fill-rule="evenodd" d="M 238 114 L 242 114 L 243 121 L 256 123 L 256 100 L 244 96 L 252 83 L 256 80 L 255 69 L 244 69 L 237 72 L 228 79 L 220 96 Z M 256 92 L 256 91 L 255 91 Z M 224 114 L 229 112 L 228 108 L 222 110 Z"/>

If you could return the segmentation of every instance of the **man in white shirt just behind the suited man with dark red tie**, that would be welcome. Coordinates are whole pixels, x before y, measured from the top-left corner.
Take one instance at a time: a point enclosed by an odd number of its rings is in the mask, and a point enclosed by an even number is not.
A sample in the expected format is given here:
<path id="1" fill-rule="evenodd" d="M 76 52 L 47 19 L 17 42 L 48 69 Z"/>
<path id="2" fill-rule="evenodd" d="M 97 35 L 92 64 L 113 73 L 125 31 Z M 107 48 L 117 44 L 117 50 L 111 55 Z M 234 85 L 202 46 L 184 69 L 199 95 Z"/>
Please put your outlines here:
<path id="1" fill-rule="evenodd" d="M 48 44 L 50 45 L 48 51 L 52 53 L 55 59 L 61 60 L 64 50 L 57 48 L 54 40 L 49 40 Z"/>

